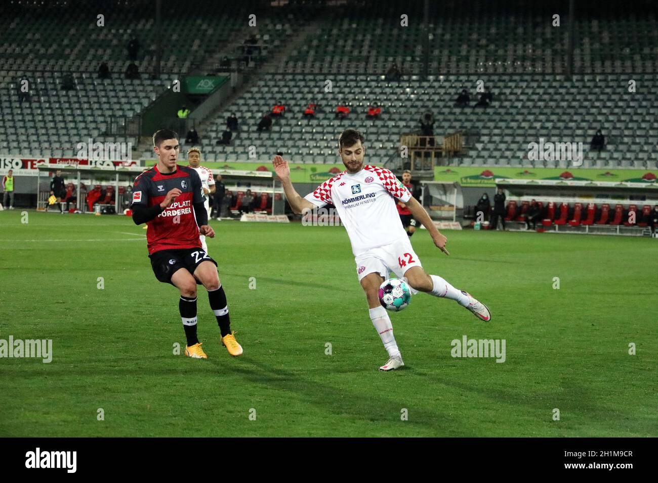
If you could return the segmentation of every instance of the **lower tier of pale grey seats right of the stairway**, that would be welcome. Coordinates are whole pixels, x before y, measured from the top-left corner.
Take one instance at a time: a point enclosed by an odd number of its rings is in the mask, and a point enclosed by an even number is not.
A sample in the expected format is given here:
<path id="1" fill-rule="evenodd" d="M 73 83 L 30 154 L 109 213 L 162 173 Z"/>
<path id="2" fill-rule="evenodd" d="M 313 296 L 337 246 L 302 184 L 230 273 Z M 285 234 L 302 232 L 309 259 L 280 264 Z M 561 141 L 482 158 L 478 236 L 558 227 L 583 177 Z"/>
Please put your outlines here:
<path id="1" fill-rule="evenodd" d="M 486 109 L 453 106 L 461 87 L 475 86 L 479 78 L 492 86 L 493 105 Z M 257 146 L 258 162 L 268 162 L 272 152 L 283 150 L 291 162 L 333 164 L 340 162 L 338 133 L 357 126 L 366 137 L 368 162 L 384 164 L 399 159 L 400 135 L 418 132 L 418 118 L 430 111 L 439 144 L 443 135 L 467 133 L 468 149 L 443 161 L 451 166 L 566 168 L 567 160 L 528 160 L 528 143 L 544 139 L 582 143 L 583 168 L 655 169 L 652 139 L 658 135 L 658 107 L 651 93 L 658 91 L 658 80 L 642 74 L 634 78 L 647 90 L 631 97 L 627 89 L 619 88 L 627 84 L 628 76 L 619 74 L 578 76 L 574 81 L 527 75 L 430 76 L 428 80 L 411 76 L 394 83 L 382 76 L 335 74 L 331 92 L 324 92 L 326 76 L 268 74 L 205 122 L 201 143 L 210 160 L 251 160 L 249 147 Z M 605 105 L 597 101 L 600 97 L 606 99 Z M 256 131 L 261 116 L 279 99 L 286 104 L 286 115 L 274 119 L 270 132 Z M 303 111 L 311 101 L 318 109 L 309 120 L 303 118 Z M 382 106 L 381 118 L 366 120 L 373 101 Z M 334 116 L 340 102 L 352 108 L 345 120 Z M 230 146 L 216 146 L 232 112 L 240 120 L 240 130 Z M 565 112 L 569 113 L 566 119 Z M 601 152 L 590 150 L 599 127 L 607 143 Z"/>

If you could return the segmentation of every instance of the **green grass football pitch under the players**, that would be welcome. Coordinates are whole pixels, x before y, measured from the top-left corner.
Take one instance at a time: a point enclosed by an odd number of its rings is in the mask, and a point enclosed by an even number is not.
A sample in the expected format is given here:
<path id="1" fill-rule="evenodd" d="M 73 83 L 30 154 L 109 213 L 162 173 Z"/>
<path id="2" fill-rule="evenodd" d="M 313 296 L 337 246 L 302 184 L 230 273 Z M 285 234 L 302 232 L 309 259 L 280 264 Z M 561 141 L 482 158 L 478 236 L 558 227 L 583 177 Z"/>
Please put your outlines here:
<path id="1" fill-rule="evenodd" d="M 418 294 L 391 314 L 406 366 L 381 373 L 343 227 L 212 221 L 245 353 L 220 346 L 200 287 L 196 360 L 173 354 L 178 292 L 141 227 L 28 216 L 0 212 L 0 338 L 52 339 L 53 360 L 0 359 L 0 436 L 658 435 L 654 239 L 446 231 L 448 257 L 420 231 L 425 269 L 493 320 Z M 505 339 L 505 362 L 451 357 L 464 334 Z"/>

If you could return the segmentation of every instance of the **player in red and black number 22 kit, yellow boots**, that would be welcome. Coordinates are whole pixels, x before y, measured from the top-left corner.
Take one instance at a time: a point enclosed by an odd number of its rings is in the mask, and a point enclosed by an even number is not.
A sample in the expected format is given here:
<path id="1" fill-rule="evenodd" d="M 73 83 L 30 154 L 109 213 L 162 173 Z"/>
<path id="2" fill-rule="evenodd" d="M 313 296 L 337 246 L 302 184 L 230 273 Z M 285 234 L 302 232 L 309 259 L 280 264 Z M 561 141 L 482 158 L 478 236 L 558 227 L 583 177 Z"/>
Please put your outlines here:
<path id="1" fill-rule="evenodd" d="M 132 219 L 147 223 L 149 258 L 155 277 L 180 290 L 178 308 L 188 339 L 185 355 L 207 359 L 197 339 L 197 284 L 208 290 L 210 307 L 229 354 L 240 356 L 242 348 L 231 332 L 226 294 L 217 275 L 217 262 L 201 248 L 199 234 L 215 237 L 208 225 L 208 212 L 201 196 L 201 178 L 188 166 L 179 166 L 178 134 L 161 129 L 153 135 L 158 162 L 135 180 Z"/>

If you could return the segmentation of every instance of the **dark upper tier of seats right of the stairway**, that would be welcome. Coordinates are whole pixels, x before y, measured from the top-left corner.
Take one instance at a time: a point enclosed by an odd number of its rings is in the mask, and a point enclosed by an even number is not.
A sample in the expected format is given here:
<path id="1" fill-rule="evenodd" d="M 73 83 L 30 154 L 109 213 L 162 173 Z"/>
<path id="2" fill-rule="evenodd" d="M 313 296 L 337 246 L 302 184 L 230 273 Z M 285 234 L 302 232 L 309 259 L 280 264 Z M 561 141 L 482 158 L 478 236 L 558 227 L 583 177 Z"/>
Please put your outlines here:
<path id="1" fill-rule="evenodd" d="M 504 1 L 430 2 L 430 74 L 565 73 L 567 28 L 547 21 L 560 10 L 553 4 L 528 2 L 513 11 Z M 639 17 L 595 9 L 577 16 L 575 72 L 656 72 L 655 14 L 647 8 Z M 291 53 L 284 70 L 384 74 L 397 62 L 404 73 L 420 74 L 424 34 L 414 19 L 422 5 L 408 2 L 405 12 L 409 25 L 401 28 L 395 2 L 378 1 L 376 12 L 367 3 L 338 11 Z M 559 13 L 566 22 L 567 12 Z"/>

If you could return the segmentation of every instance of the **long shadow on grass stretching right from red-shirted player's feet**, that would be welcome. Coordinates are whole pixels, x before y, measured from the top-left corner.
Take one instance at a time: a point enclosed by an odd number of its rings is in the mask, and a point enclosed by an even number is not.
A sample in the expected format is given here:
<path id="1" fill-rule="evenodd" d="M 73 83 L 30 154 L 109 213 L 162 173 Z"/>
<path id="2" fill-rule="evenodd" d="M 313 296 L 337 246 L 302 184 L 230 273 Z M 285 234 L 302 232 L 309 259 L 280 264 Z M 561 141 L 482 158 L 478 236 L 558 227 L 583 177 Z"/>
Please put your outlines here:
<path id="1" fill-rule="evenodd" d="M 334 413 L 340 417 L 349 417 L 358 419 L 360 421 L 369 421 L 370 423 L 396 423 L 405 425 L 418 425 L 418 436 L 475 436 L 465 430 L 462 421 L 451 417 L 451 415 L 437 410 L 436 412 L 427 411 L 426 409 L 419 409 L 410 405 L 408 394 L 399 394 L 398 400 L 384 398 L 378 394 L 367 392 L 364 390 L 362 394 L 345 390 L 344 388 L 336 388 L 321 382 L 309 380 L 297 373 L 286 371 L 284 369 L 276 369 L 270 366 L 263 365 L 257 361 L 245 359 L 243 362 L 250 363 L 255 369 L 249 369 L 242 366 L 234 366 L 231 368 L 232 373 L 238 373 L 249 382 L 256 384 L 263 384 L 268 388 L 276 390 L 283 390 L 287 392 L 294 392 L 299 394 L 301 400 L 322 409 Z M 217 363 L 219 367 L 220 364 Z M 406 371 L 410 371 L 409 367 L 405 367 Z M 313 373 L 316 375 L 317 373 Z M 372 377 L 389 377 L 392 380 L 390 388 L 395 388 L 393 382 L 393 374 L 373 374 Z M 370 386 L 372 389 L 372 386 Z M 340 397 L 337 397 L 340 396 Z M 411 406 L 411 407 L 409 407 Z M 413 414 L 409 421 L 402 422 L 400 419 L 401 409 L 407 407 L 410 413 Z M 432 434 L 427 434 L 426 429 L 430 428 Z M 459 428 L 461 434 L 455 434 L 454 428 Z M 376 431 L 384 431 L 388 428 L 372 428 Z M 351 434 L 351 436 L 368 436 L 367 434 Z"/>

